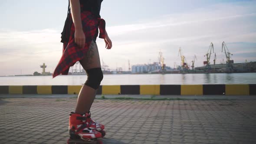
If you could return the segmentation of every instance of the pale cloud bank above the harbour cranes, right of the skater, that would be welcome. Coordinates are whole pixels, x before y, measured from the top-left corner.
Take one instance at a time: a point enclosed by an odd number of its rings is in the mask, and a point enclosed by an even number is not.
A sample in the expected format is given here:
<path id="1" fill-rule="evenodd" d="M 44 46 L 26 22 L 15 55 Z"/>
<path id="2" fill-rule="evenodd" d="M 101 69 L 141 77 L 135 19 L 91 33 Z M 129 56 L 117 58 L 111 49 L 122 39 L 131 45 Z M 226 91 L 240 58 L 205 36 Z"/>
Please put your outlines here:
<path id="1" fill-rule="evenodd" d="M 122 59 L 132 59 L 135 63 L 148 63 L 149 59 L 157 61 L 159 49 L 164 52 L 167 65 L 180 63 L 177 52 L 183 49 L 187 61 L 197 55 L 196 66 L 202 65 L 208 46 L 213 42 L 217 58 L 225 58 L 221 52 L 223 41 L 230 52 L 234 53 L 236 62 L 242 62 L 244 55 L 237 52 L 256 51 L 256 10 L 255 2 L 216 4 L 186 13 L 176 13 L 137 24 L 108 27 L 113 39 L 113 55 Z M 229 45 L 229 43 L 239 43 Z M 252 43 L 247 46 L 245 43 Z M 103 46 L 103 44 L 102 44 Z M 114 50 L 115 49 L 115 50 Z M 109 52 L 102 52 L 105 62 L 113 64 L 108 58 Z M 107 58 L 105 58 L 107 57 Z M 248 57 L 256 60 L 256 57 Z M 122 60 L 120 60 L 122 61 Z M 151 61 L 152 62 L 152 61 Z"/>

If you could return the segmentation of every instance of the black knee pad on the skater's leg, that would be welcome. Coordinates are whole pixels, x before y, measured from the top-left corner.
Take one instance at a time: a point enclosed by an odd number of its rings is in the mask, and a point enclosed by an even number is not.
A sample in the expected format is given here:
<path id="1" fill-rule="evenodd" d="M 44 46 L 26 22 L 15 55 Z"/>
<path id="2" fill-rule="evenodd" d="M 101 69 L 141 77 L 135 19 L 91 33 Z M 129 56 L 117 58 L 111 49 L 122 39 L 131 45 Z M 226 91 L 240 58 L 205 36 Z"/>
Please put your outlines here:
<path id="1" fill-rule="evenodd" d="M 88 69 L 86 70 L 86 74 L 87 80 L 85 82 L 85 85 L 95 90 L 98 89 L 100 82 L 103 79 L 102 68 Z"/>

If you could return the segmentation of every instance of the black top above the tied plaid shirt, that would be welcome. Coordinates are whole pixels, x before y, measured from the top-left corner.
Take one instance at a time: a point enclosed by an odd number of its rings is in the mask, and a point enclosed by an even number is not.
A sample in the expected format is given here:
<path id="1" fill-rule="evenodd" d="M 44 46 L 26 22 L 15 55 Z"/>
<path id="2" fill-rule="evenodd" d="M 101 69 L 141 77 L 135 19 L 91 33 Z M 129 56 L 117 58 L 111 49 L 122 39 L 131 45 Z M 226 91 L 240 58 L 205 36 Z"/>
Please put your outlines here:
<path id="1" fill-rule="evenodd" d="M 82 11 L 90 11 L 93 15 L 100 17 L 100 8 L 103 0 L 80 0 L 83 5 Z"/>

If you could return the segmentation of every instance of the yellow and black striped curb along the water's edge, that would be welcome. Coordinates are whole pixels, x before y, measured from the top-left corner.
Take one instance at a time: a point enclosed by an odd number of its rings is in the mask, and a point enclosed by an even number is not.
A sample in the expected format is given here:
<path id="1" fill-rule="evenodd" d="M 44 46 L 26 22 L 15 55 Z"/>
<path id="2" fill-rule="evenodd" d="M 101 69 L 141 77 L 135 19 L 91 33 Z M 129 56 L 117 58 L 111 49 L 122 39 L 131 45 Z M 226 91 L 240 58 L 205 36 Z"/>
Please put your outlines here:
<path id="1" fill-rule="evenodd" d="M 0 85 L 0 94 L 79 94 L 82 85 Z M 256 84 L 101 85 L 97 95 L 256 95 Z"/>

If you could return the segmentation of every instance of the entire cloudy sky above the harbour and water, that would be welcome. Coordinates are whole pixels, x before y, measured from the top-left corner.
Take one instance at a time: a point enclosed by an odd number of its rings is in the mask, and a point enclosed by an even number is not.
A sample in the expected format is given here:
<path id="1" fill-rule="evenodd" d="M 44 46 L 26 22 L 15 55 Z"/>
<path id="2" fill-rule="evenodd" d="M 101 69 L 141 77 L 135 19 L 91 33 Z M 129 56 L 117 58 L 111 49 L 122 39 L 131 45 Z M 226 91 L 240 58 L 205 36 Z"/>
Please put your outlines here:
<path id="1" fill-rule="evenodd" d="M 1 0 L 0 75 L 53 72 L 62 56 L 60 33 L 68 0 Z M 181 64 L 206 60 L 213 43 L 217 63 L 225 41 L 234 62 L 256 61 L 256 0 L 103 0 L 101 17 L 113 47 L 97 39 L 101 63 L 110 68 L 158 62 Z M 213 61 L 213 55 L 211 60 Z M 213 63 L 213 62 L 212 62 Z"/>

